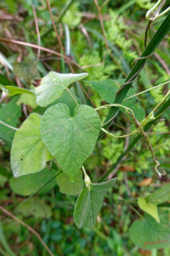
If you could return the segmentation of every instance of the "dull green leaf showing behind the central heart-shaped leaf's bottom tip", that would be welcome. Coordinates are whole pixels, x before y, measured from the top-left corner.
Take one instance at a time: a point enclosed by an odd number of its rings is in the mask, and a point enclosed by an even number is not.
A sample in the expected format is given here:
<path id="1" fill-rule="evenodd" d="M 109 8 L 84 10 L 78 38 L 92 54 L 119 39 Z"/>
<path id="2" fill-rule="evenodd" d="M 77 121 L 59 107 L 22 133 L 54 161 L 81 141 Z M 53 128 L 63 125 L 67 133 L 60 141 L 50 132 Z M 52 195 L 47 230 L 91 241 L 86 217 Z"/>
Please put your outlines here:
<path id="1" fill-rule="evenodd" d="M 83 178 L 82 172 L 78 172 L 74 183 L 70 182 L 68 176 L 61 172 L 59 176 L 56 177 L 59 183 L 60 192 L 67 195 L 78 196 L 83 188 Z"/>

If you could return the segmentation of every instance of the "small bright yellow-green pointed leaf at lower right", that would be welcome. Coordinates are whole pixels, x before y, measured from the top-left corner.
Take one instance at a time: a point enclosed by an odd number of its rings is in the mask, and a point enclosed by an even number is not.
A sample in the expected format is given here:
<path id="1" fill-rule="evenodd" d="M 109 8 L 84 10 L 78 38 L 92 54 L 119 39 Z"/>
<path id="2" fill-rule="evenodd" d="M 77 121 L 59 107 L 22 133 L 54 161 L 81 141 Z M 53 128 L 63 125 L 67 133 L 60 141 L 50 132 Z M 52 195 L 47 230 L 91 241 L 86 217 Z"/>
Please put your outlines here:
<path id="1" fill-rule="evenodd" d="M 139 207 L 144 211 L 147 212 L 150 216 L 152 216 L 158 223 L 160 223 L 159 215 L 158 215 L 158 208 L 156 205 L 147 203 L 145 198 L 138 198 L 137 201 Z"/>

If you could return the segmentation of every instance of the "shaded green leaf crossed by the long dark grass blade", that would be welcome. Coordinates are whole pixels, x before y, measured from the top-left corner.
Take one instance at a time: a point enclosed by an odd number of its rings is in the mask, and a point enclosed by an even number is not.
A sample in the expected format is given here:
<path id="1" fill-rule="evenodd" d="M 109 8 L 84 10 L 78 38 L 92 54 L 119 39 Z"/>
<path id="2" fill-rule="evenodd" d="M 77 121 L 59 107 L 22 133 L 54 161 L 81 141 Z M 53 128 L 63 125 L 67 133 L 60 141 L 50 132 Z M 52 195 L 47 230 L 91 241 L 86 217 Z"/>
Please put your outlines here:
<path id="1" fill-rule="evenodd" d="M 125 82 L 124 79 L 119 79 L 119 80 L 107 79 L 104 81 L 88 81 L 88 83 L 93 86 L 96 92 L 98 92 L 98 94 L 102 96 L 102 98 L 104 98 L 104 100 L 106 100 L 109 104 L 113 104 L 116 93 L 119 90 L 119 87 L 121 86 L 121 84 L 123 84 L 124 82 Z M 131 89 L 127 93 L 126 98 L 134 94 L 135 94 L 135 90 Z M 122 102 L 122 105 L 128 108 L 131 108 L 137 120 L 143 120 L 143 118 L 145 117 L 145 110 L 141 106 L 139 98 L 137 97 L 130 98 Z M 120 108 L 120 110 L 126 114 L 124 108 Z"/>

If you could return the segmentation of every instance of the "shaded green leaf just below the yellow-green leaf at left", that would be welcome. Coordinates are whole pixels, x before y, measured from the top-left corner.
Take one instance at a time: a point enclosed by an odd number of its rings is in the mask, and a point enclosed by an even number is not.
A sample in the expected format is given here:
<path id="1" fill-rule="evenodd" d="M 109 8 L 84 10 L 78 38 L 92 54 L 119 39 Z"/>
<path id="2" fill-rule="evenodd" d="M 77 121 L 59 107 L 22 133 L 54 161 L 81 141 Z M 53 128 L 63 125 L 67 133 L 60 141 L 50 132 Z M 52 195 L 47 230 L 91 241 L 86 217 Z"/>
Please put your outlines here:
<path id="1" fill-rule="evenodd" d="M 27 174 L 18 178 L 10 178 L 10 186 L 15 194 L 20 196 L 30 196 L 44 186 L 56 175 L 56 170 L 45 168 L 40 173 Z M 57 185 L 55 179 L 39 191 L 39 194 L 45 194 L 49 189 Z"/>

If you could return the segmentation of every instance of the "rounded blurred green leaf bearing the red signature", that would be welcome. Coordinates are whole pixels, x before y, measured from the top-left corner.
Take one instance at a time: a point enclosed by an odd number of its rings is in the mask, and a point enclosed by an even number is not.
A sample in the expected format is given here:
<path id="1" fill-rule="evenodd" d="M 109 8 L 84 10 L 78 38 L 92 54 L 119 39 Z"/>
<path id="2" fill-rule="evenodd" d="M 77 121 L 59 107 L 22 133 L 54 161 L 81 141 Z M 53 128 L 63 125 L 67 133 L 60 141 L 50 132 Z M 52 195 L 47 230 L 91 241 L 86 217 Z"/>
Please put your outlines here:
<path id="1" fill-rule="evenodd" d="M 129 236 L 133 244 L 146 249 L 160 249 L 170 247 L 170 224 L 168 212 L 159 210 L 161 223 L 150 215 L 145 214 L 142 220 L 135 220 L 129 228 Z M 166 241 L 166 242 L 162 242 Z M 145 242 L 147 242 L 145 244 Z M 149 244 L 149 242 L 155 242 Z M 156 243 L 157 242 L 157 243 Z M 160 243 L 161 242 L 161 243 Z"/>

